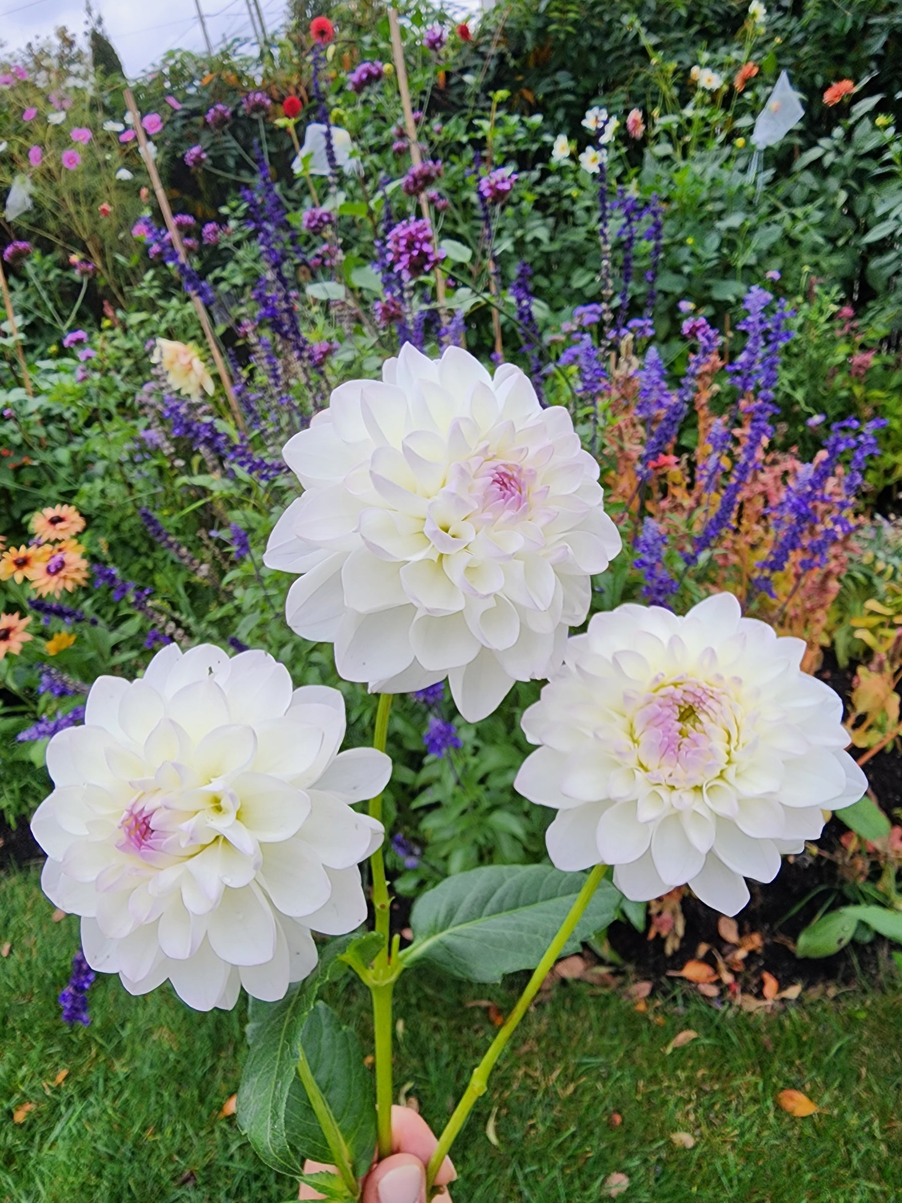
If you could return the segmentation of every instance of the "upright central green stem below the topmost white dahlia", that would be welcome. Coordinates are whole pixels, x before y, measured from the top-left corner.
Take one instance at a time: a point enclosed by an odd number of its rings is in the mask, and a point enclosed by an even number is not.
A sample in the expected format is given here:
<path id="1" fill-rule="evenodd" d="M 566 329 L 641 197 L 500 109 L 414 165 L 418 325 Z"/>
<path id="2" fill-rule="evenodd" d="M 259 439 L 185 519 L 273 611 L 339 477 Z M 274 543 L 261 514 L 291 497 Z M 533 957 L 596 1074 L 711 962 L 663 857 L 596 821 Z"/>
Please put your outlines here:
<path id="1" fill-rule="evenodd" d="M 376 709 L 373 747 L 385 752 L 388 742 L 388 712 L 392 705 L 390 693 L 380 694 Z M 370 799 L 369 814 L 382 820 L 382 795 Z M 381 845 L 369 858 L 373 875 L 373 908 L 375 911 L 375 930 L 384 940 L 384 948 L 375 959 L 373 978 L 368 983 L 373 995 L 373 1029 L 375 1033 L 375 1078 L 376 1078 L 376 1118 L 379 1125 L 379 1158 L 387 1157 L 392 1151 L 392 991 L 394 989 L 396 970 L 390 964 L 388 931 L 390 908 L 388 882 L 385 877 L 385 858 Z"/>

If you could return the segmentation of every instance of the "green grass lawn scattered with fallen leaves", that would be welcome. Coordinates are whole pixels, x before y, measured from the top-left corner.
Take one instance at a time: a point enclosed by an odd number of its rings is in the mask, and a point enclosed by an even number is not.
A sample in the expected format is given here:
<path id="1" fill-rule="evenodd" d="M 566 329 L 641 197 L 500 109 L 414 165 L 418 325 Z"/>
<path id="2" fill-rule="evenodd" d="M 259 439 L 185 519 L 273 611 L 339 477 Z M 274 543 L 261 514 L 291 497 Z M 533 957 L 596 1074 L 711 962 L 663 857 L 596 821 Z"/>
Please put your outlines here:
<path id="1" fill-rule="evenodd" d="M 291 1180 L 219 1118 L 238 1085 L 243 1006 L 197 1014 L 167 988 L 131 998 L 105 977 L 90 1027 L 70 1031 L 57 995 L 77 920 L 54 923 L 52 911 L 36 871 L 0 877 L 0 1199 L 286 1203 Z M 361 1017 L 361 991 L 351 982 L 330 1001 Z M 489 997 L 504 1011 L 515 990 L 413 974 L 398 986 L 396 1083 L 433 1125 L 493 1032 L 485 1009 L 464 1003 Z M 665 1055 L 688 1027 L 699 1038 Z M 784 1088 L 820 1112 L 788 1115 L 775 1103 Z M 623 1203 L 902 1201 L 901 1088 L 895 991 L 753 1015 L 673 998 L 642 1014 L 559 985 L 523 1021 L 455 1149 L 455 1203 L 588 1203 L 607 1197 L 611 1173 L 629 1178 Z M 497 1146 L 486 1136 L 495 1107 Z M 676 1146 L 673 1132 L 694 1148 Z"/>

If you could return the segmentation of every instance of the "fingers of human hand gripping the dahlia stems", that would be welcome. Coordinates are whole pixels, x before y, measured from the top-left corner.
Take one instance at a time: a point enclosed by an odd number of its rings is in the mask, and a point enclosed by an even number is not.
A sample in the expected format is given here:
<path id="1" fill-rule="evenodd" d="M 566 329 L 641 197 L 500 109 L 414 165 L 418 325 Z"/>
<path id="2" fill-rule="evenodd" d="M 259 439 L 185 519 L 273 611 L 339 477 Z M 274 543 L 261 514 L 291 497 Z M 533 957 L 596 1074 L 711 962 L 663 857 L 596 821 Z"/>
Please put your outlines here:
<path id="1" fill-rule="evenodd" d="M 409 1107 L 392 1107 L 392 1151 L 373 1166 L 363 1180 L 362 1203 L 426 1203 L 426 1167 L 439 1142 L 426 1120 Z M 304 1173 L 315 1174 L 324 1166 L 319 1161 L 305 1161 Z M 435 1175 L 437 1186 L 446 1186 L 457 1178 L 457 1171 L 445 1157 Z M 311 1186 L 302 1186 L 301 1199 L 321 1199 Z M 447 1191 L 440 1195 L 443 1203 L 451 1203 Z"/>

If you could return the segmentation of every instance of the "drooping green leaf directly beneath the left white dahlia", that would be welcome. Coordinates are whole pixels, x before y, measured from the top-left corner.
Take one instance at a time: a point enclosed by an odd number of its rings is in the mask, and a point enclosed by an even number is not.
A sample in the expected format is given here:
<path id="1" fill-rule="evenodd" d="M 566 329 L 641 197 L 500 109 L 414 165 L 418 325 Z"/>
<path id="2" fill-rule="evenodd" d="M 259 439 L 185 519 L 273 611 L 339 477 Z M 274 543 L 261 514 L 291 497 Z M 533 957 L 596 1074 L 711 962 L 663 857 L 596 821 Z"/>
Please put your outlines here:
<path id="1" fill-rule="evenodd" d="M 301 1032 L 325 983 L 348 971 L 339 956 L 350 944 L 348 938 L 332 941 L 314 972 L 281 1002 L 250 1000 L 247 1027 L 250 1051 L 238 1086 L 238 1127 L 257 1156 L 283 1174 L 299 1174 L 308 1156 L 307 1150 L 290 1145 L 285 1132 L 289 1091 L 295 1083 L 301 1088 L 297 1077 Z"/>

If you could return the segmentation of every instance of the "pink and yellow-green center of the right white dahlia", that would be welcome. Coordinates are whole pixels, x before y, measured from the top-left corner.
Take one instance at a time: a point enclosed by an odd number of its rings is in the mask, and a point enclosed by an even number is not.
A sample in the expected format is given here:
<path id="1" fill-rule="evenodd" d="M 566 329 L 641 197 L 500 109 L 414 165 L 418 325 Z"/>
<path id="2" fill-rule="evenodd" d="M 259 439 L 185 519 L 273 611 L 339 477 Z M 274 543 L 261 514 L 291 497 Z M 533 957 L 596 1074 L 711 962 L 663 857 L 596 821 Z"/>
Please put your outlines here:
<path id="1" fill-rule="evenodd" d="M 646 780 L 680 789 L 719 776 L 729 760 L 736 721 L 720 689 L 683 680 L 648 693 L 633 728 Z"/>

